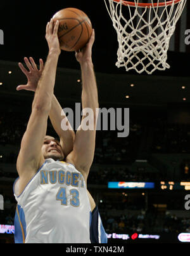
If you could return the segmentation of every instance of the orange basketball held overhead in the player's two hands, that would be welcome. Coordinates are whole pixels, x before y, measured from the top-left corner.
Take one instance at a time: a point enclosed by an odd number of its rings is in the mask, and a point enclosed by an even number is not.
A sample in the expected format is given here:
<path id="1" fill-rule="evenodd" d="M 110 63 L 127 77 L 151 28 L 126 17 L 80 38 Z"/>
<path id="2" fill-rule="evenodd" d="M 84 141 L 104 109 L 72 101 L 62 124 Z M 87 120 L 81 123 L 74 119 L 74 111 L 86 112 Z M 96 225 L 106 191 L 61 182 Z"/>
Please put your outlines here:
<path id="1" fill-rule="evenodd" d="M 89 41 L 92 34 L 91 20 L 77 8 L 65 8 L 53 16 L 60 21 L 58 38 L 64 51 L 78 51 Z"/>

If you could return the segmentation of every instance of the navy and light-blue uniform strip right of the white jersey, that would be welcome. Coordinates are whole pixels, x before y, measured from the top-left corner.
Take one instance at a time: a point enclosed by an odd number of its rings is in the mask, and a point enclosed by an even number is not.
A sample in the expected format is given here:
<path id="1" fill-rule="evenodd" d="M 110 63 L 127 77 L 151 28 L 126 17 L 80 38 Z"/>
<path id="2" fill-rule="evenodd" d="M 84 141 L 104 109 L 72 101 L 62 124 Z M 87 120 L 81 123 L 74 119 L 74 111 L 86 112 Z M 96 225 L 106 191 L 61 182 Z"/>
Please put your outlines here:
<path id="1" fill-rule="evenodd" d="M 90 238 L 91 243 L 108 243 L 108 238 L 103 227 L 101 217 L 99 215 L 98 206 L 92 212 L 92 220 L 91 220 L 91 227 L 90 227 Z M 100 234 L 99 234 L 99 225 L 100 225 Z M 99 236 L 101 241 L 99 241 Z"/>

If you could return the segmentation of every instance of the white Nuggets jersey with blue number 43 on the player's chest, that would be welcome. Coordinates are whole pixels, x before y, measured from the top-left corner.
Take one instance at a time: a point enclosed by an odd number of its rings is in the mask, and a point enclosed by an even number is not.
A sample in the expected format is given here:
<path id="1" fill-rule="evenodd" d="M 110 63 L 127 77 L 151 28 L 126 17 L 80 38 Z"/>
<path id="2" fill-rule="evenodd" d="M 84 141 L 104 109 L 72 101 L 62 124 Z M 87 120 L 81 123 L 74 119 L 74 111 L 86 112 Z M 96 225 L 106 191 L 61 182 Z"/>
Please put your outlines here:
<path id="1" fill-rule="evenodd" d="M 71 164 L 46 159 L 18 195 L 15 243 L 91 243 L 91 205 L 82 174 Z"/>

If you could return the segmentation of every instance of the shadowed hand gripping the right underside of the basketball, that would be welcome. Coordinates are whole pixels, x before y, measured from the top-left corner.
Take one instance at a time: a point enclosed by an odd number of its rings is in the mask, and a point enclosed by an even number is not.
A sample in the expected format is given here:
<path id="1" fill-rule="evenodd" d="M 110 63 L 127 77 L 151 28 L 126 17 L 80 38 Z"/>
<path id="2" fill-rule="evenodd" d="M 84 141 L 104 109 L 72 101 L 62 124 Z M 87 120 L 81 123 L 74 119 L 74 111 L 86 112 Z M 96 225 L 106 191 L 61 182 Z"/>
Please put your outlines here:
<path id="1" fill-rule="evenodd" d="M 89 42 L 80 51 L 75 52 L 75 57 L 77 58 L 77 61 L 80 63 L 80 65 L 88 61 L 92 62 L 92 46 L 94 44 L 94 39 L 95 32 L 94 29 L 92 29 L 92 35 L 89 39 Z"/>

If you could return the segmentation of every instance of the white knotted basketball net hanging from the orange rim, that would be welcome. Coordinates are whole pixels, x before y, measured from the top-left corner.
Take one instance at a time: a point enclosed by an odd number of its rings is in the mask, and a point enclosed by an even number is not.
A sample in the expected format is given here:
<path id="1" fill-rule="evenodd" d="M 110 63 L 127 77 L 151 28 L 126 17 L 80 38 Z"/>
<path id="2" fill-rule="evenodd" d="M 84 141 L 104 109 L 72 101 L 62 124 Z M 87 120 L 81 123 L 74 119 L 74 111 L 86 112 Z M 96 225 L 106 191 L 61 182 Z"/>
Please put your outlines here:
<path id="1" fill-rule="evenodd" d="M 135 69 L 138 73 L 152 74 L 156 70 L 169 69 L 167 51 L 170 38 L 175 31 L 177 20 L 181 17 L 186 0 L 161 1 L 149 0 L 150 6 L 134 6 L 126 1 L 105 0 L 106 8 L 117 31 L 117 67 L 126 71 Z"/>

